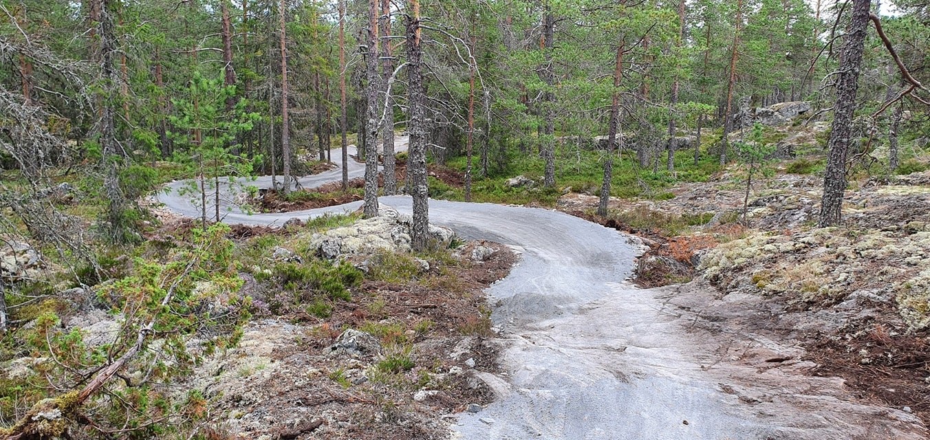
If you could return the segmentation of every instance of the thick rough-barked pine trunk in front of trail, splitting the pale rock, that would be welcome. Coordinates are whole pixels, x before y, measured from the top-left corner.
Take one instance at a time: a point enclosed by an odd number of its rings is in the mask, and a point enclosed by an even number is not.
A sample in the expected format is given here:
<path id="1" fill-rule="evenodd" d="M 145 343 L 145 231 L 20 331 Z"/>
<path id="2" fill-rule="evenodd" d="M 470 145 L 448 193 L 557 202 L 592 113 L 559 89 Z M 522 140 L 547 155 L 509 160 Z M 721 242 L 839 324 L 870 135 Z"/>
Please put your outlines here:
<path id="1" fill-rule="evenodd" d="M 426 117 L 423 106 L 423 73 L 420 65 L 419 0 L 407 0 L 406 47 L 407 81 L 410 93 L 410 152 L 407 160 L 407 180 L 413 190 L 413 225 L 410 228 L 411 245 L 423 250 L 429 244 L 430 188 L 426 180 Z"/>

